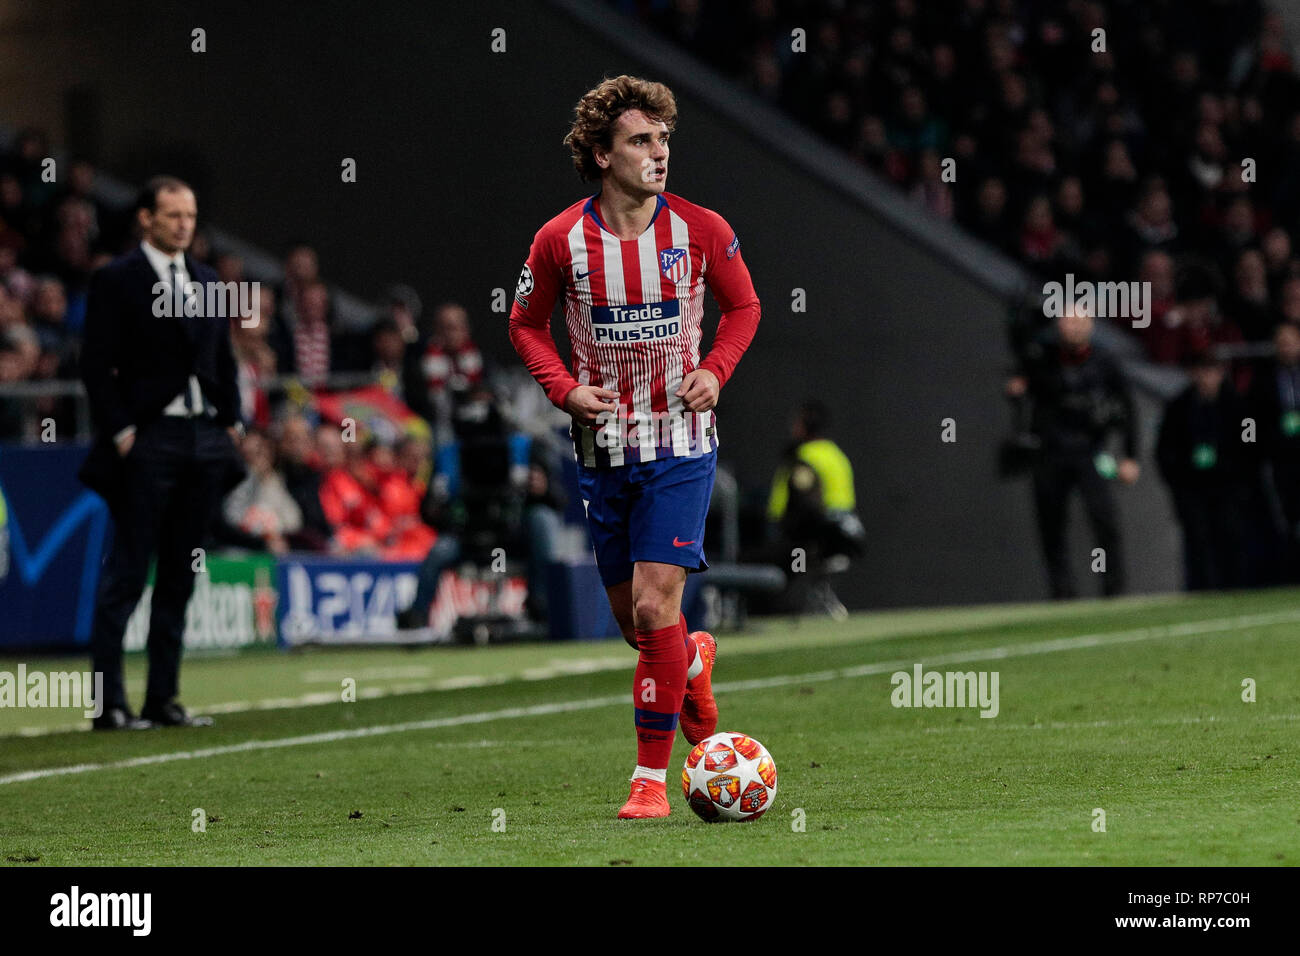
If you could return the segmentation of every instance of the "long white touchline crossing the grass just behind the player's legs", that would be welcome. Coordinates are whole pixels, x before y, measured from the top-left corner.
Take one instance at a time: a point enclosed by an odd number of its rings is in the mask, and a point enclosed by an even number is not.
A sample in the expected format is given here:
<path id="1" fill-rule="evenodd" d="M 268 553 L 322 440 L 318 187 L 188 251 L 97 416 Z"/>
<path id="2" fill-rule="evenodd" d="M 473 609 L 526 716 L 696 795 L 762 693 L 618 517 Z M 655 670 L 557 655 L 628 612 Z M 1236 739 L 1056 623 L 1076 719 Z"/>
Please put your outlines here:
<path id="1" fill-rule="evenodd" d="M 1087 650 L 1091 648 L 1109 646 L 1112 644 L 1134 644 L 1138 641 L 1157 640 L 1160 637 L 1193 637 L 1208 633 L 1221 633 L 1225 631 L 1242 631 L 1249 627 L 1268 627 L 1300 620 L 1300 611 L 1274 611 L 1270 614 L 1249 614 L 1235 618 L 1217 618 L 1213 620 L 1191 620 L 1182 624 L 1162 624 L 1158 627 L 1141 627 L 1132 631 L 1112 631 L 1100 633 L 1086 633 L 1075 637 L 1057 637 L 1046 641 L 1034 641 L 1000 648 L 976 648 L 971 650 L 958 650 L 950 654 L 937 654 L 927 657 L 926 665 L 941 666 L 948 663 L 972 663 L 978 661 L 1000 661 L 1010 657 L 1030 657 L 1034 654 L 1052 654 L 1061 650 Z M 907 669 L 916 663 L 916 658 L 881 661 L 878 663 L 858 665 L 854 667 L 838 667 L 835 670 L 814 671 L 811 674 L 784 674 L 772 678 L 758 678 L 754 680 L 732 680 L 714 684 L 714 689 L 720 693 L 733 691 L 759 691 L 772 687 L 788 687 L 790 684 L 810 684 L 826 680 L 844 680 L 863 678 L 875 674 L 889 674 L 896 670 Z M 333 695 L 332 695 L 333 696 Z M 129 760 L 112 761 L 108 763 L 75 763 L 61 767 L 43 767 L 40 770 L 23 770 L 17 774 L 0 777 L 0 786 L 8 783 L 25 783 L 40 780 L 48 777 L 66 777 L 70 774 L 86 774 L 96 770 L 125 770 L 130 767 L 148 766 L 152 763 L 172 763 L 178 760 L 203 760 L 205 757 L 224 757 L 230 753 L 248 753 L 252 750 L 273 750 L 283 747 L 303 747 L 308 744 L 330 744 L 338 740 L 355 740 L 358 737 L 384 736 L 387 734 L 403 734 L 413 730 L 438 730 L 441 727 L 460 727 L 471 723 L 486 723 L 489 721 L 510 721 L 520 717 L 545 717 L 547 714 L 563 714 L 575 710 L 594 710 L 608 708 L 616 704 L 627 704 L 627 695 L 615 697 L 589 697 L 588 700 L 564 701 L 560 704 L 536 704 L 528 708 L 506 708 L 503 710 L 485 710 L 477 714 L 460 714 L 458 717 L 437 717 L 428 721 L 408 721 L 406 723 L 390 723 L 377 727 L 356 727 L 354 730 L 334 730 L 321 734 L 307 734 L 296 737 L 280 737 L 277 740 L 247 740 L 242 744 L 228 744 L 225 747 L 209 747 L 200 750 L 176 750 L 172 753 L 155 753 L 144 757 L 131 757 Z"/>

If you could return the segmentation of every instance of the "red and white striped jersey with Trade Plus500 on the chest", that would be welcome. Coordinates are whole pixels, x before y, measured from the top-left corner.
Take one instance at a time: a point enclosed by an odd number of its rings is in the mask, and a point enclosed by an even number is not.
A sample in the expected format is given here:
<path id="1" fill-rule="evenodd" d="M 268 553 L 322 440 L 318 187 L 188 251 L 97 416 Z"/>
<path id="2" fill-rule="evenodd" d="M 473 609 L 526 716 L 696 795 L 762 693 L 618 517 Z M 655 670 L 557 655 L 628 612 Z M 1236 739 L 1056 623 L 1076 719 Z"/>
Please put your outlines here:
<path id="1" fill-rule="evenodd" d="M 699 360 L 705 285 L 722 308 Z M 563 295 L 572 372 L 550 333 Z M 714 412 L 673 395 L 692 369 L 727 384 L 758 328 L 759 303 L 740 239 L 716 212 L 664 193 L 636 239 L 606 229 L 599 196 L 575 203 L 533 238 L 510 313 L 510 337 L 547 398 L 564 407 L 578 385 L 619 393 L 619 414 L 573 423 L 577 460 L 592 468 L 711 454 Z"/>

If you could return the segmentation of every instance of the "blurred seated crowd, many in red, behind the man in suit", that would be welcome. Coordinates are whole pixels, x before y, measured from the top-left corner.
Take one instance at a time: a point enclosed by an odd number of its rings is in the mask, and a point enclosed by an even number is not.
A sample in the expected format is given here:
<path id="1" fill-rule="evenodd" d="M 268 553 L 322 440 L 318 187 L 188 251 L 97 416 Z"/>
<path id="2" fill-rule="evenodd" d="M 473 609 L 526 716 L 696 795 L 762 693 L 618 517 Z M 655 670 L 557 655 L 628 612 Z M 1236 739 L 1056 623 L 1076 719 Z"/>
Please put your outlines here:
<path id="1" fill-rule="evenodd" d="M 0 156 L 0 386 L 78 381 L 90 276 L 139 242 L 131 209 L 95 198 L 90 163 L 74 161 L 68 182 L 53 186 L 42 176 L 48 155 L 46 135 L 27 129 Z M 190 254 L 222 282 L 250 278 L 240 256 L 214 248 L 202 229 Z M 413 289 L 394 285 L 368 326 L 352 328 L 339 321 L 309 243 L 292 243 L 282 271 L 280 284 L 260 285 L 259 321 L 230 323 L 248 475 L 226 497 L 213 544 L 428 557 L 425 576 L 436 581 L 474 524 L 464 505 L 476 490 L 464 479 L 468 436 L 508 462 L 506 484 L 493 490 L 516 507 L 494 532 L 515 533 L 521 550 L 545 557 L 547 542 L 528 538 L 545 538 L 563 506 L 551 447 L 511 441 L 467 310 L 448 302 L 426 315 Z M 0 395 L 0 441 L 36 440 L 51 419 L 56 436 L 75 436 L 74 401 L 69 389 Z M 355 431 L 341 428 L 348 416 Z M 537 421 L 528 428 L 542 431 Z"/>

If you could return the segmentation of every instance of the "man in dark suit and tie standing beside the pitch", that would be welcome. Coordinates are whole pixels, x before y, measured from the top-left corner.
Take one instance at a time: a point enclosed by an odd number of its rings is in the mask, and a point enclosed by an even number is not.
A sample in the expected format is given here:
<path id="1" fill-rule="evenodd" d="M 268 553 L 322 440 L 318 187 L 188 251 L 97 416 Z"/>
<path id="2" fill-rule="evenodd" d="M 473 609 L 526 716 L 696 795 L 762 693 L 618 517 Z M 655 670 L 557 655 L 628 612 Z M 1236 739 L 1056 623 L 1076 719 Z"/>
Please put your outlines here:
<path id="1" fill-rule="evenodd" d="M 186 183 L 151 179 L 135 209 L 143 241 L 90 285 L 82 378 L 96 442 L 81 479 L 114 522 L 91 633 L 92 667 L 104 675 L 96 730 L 211 723 L 177 701 L 181 639 L 204 561 L 198 549 L 243 466 L 229 317 L 205 313 L 217 276 L 186 255 L 196 215 Z M 148 685 L 136 718 L 122 683 L 122 637 L 155 555 Z"/>

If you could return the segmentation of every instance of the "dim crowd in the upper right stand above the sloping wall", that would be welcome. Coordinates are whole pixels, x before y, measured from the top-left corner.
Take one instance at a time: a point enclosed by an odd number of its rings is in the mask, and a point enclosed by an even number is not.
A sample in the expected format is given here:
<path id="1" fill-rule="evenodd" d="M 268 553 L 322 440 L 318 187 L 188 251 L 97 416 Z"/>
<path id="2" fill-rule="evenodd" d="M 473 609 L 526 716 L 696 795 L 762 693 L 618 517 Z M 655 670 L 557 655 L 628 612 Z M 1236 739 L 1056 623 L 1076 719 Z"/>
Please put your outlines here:
<path id="1" fill-rule="evenodd" d="M 1300 320 L 1300 78 L 1258 0 L 610 3 L 1044 280 L 1152 282 L 1156 362 Z"/>

